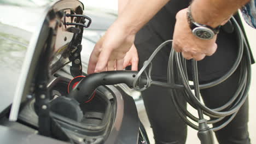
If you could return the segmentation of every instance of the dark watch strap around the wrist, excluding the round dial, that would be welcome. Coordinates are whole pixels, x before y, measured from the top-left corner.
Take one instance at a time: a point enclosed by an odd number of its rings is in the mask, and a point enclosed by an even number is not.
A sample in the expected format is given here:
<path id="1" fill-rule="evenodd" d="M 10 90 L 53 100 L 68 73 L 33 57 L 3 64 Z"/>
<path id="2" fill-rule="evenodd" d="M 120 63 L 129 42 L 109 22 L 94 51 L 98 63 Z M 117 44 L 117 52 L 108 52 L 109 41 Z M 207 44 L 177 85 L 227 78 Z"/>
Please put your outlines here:
<path id="1" fill-rule="evenodd" d="M 188 7 L 187 17 L 188 17 L 188 23 L 189 23 L 189 26 L 190 26 L 191 30 L 193 30 L 196 27 L 207 27 L 207 28 L 210 28 L 214 32 L 214 34 L 218 34 L 219 33 L 220 26 L 218 26 L 216 28 L 213 28 L 211 26 L 207 26 L 207 25 L 203 25 L 203 24 L 195 22 L 193 17 L 192 17 L 192 15 L 191 15 L 191 7 L 190 7 L 190 5 Z"/>

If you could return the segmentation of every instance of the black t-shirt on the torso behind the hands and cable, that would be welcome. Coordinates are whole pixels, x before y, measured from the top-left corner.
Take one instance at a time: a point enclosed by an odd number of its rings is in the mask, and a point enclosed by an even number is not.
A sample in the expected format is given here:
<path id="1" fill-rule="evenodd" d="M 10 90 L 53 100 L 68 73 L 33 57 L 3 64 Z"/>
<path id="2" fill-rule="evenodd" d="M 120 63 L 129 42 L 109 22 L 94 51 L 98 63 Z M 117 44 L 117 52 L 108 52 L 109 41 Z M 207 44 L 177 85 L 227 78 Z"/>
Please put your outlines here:
<path id="1" fill-rule="evenodd" d="M 139 55 L 139 68 L 142 67 L 153 51 L 162 42 L 172 39 L 176 14 L 187 8 L 190 1 L 172 0 L 168 2 L 137 34 L 135 45 Z M 212 56 L 206 56 L 197 63 L 199 80 L 217 79 L 225 74 L 237 57 L 237 39 L 235 32 L 227 33 L 220 30 L 217 38 L 218 49 Z M 166 80 L 168 57 L 171 44 L 164 47 L 153 60 L 153 79 Z M 188 73 L 191 75 L 191 61 L 188 61 Z"/>

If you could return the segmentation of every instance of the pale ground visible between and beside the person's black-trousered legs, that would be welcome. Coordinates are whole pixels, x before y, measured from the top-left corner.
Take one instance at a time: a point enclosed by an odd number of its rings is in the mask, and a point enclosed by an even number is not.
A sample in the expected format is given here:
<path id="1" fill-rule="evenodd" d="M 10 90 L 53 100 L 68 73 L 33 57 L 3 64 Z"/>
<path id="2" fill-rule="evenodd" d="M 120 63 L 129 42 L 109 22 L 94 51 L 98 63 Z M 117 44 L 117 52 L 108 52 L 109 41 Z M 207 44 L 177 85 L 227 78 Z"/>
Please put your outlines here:
<path id="1" fill-rule="evenodd" d="M 249 39 L 249 43 L 251 45 L 254 57 L 256 58 L 256 39 L 255 39 L 256 29 L 253 29 L 248 25 L 245 25 L 245 28 L 246 28 L 247 37 Z M 249 134 L 250 134 L 252 143 L 256 143 L 256 123 L 255 123 L 256 113 L 254 113 L 256 110 L 255 94 L 256 94 L 256 64 L 252 65 L 252 84 L 249 92 Z M 191 110 L 191 108 L 188 108 L 188 109 Z M 192 111 L 192 112 L 196 113 L 196 111 Z M 139 117 L 141 118 L 142 123 L 146 127 L 150 142 L 154 144 L 152 129 L 150 128 L 150 124 L 148 122 L 148 118 L 145 110 L 141 109 L 139 111 Z M 200 143 L 200 141 L 197 139 L 196 134 L 197 134 L 196 130 L 189 128 L 187 143 L 189 144 Z M 216 143 L 218 142 L 216 141 Z"/>

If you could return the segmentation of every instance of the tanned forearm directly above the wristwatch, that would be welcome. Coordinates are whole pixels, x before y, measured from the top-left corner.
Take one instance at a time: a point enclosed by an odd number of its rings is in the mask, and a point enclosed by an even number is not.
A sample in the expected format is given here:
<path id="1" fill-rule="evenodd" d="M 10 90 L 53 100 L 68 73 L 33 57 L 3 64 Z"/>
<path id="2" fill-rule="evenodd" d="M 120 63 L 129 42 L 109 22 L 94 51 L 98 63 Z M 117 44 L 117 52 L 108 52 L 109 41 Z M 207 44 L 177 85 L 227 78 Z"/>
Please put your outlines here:
<path id="1" fill-rule="evenodd" d="M 196 22 L 217 27 L 247 2 L 249 0 L 194 0 L 191 14 Z"/>

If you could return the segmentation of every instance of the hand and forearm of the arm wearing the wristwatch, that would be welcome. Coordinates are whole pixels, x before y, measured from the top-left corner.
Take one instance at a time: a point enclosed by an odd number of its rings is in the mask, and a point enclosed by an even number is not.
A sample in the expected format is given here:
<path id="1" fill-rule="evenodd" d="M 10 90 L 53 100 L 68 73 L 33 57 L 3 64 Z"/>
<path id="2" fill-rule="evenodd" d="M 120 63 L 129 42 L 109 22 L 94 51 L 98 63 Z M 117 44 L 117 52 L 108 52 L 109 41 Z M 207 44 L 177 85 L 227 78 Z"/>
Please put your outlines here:
<path id="1" fill-rule="evenodd" d="M 250 0 L 193 0 L 191 15 L 195 22 L 217 27 L 224 25 L 232 14 Z M 215 43 L 217 35 L 211 40 L 202 40 L 195 37 L 187 21 L 187 9 L 179 11 L 176 15 L 176 25 L 173 34 L 173 47 L 177 52 L 182 52 L 187 59 L 196 61 L 205 56 L 211 56 L 217 49 Z"/>

